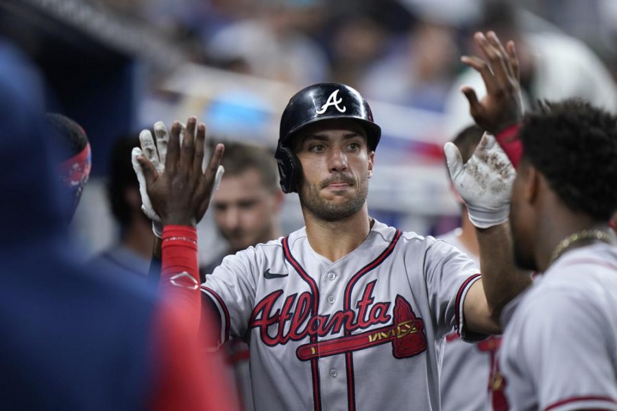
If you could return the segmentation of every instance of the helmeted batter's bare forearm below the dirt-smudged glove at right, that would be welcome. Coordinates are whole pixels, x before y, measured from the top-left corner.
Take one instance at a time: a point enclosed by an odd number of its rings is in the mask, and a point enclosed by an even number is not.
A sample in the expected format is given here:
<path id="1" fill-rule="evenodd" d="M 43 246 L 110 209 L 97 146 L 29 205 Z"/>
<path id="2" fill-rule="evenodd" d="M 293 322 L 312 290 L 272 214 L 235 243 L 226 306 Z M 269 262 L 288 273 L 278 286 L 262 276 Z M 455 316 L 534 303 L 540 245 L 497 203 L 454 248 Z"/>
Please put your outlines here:
<path id="1" fill-rule="evenodd" d="M 482 284 L 491 319 L 499 323 L 501 310 L 531 284 L 527 271 L 516 269 L 508 223 L 477 229 Z"/>

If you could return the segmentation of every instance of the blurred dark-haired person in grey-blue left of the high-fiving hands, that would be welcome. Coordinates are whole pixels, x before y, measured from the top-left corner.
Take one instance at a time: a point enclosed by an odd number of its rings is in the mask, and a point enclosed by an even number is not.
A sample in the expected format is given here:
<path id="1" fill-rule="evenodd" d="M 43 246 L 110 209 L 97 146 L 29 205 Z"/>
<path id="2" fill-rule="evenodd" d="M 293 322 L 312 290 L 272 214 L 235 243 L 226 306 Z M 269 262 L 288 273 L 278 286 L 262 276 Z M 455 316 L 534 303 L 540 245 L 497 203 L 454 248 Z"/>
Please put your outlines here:
<path id="1" fill-rule="evenodd" d="M 93 262 L 108 273 L 145 277 L 152 258 L 154 234 L 152 223 L 141 211 L 139 184 L 127 154 L 139 146 L 137 136 L 123 136 L 112 149 L 107 195 L 114 219 L 120 225 L 120 241 Z"/>

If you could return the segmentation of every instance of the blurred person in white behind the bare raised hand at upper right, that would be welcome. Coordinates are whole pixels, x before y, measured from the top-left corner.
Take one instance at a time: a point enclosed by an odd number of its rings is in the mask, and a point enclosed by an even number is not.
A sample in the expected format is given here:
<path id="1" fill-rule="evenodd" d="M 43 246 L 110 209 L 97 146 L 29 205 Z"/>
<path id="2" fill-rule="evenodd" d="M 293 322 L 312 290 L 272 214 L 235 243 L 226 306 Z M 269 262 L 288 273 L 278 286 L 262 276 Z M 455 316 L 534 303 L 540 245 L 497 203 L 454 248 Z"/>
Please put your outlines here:
<path id="1" fill-rule="evenodd" d="M 617 109 L 614 81 L 589 47 L 558 32 L 525 32 L 519 19 L 516 8 L 509 3 L 489 1 L 479 30 L 494 30 L 504 41 L 516 43 L 527 108 L 537 99 L 558 101 L 580 97 L 610 111 Z M 459 76 L 446 103 L 451 132 L 472 123 L 468 101 L 461 93 L 461 86 L 465 85 L 474 88 L 479 98 L 486 92 L 476 71 L 468 69 Z"/>

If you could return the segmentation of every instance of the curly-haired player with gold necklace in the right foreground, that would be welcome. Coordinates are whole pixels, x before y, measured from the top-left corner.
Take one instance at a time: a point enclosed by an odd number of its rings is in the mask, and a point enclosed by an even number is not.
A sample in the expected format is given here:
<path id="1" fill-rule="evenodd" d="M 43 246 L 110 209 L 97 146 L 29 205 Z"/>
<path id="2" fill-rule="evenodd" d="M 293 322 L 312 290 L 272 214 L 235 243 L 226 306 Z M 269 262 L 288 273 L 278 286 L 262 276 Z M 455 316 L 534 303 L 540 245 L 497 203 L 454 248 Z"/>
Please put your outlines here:
<path id="1" fill-rule="evenodd" d="M 481 41 L 498 44 L 494 34 Z M 490 56 L 496 73 L 508 60 L 498 48 Z M 466 61 L 491 78 L 480 60 Z M 500 84 L 496 106 L 507 112 L 518 73 L 503 78 L 492 86 Z M 496 127 L 464 91 L 477 124 L 496 134 L 511 128 Z M 617 209 L 607 184 L 617 179 L 616 124 L 613 114 L 566 100 L 513 125 L 522 147 L 510 212 L 514 257 L 542 275 L 516 310 L 502 312 L 496 384 L 505 397 L 494 397 L 495 410 L 617 410 L 617 247 L 606 223 Z"/>

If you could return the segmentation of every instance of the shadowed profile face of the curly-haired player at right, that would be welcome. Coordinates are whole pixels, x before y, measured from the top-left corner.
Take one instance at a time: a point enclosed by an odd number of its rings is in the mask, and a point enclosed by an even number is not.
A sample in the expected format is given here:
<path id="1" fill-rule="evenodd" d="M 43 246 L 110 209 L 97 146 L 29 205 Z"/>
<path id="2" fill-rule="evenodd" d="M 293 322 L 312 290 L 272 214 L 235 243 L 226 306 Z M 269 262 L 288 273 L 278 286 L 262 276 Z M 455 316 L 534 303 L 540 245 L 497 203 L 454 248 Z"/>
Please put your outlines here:
<path id="1" fill-rule="evenodd" d="M 533 219 L 533 208 L 529 203 L 529 184 L 532 184 L 530 181 L 532 178 L 529 164 L 521 162 L 512 186 L 510 227 L 516 266 L 524 270 L 537 271 L 533 255 L 535 219 Z"/>

